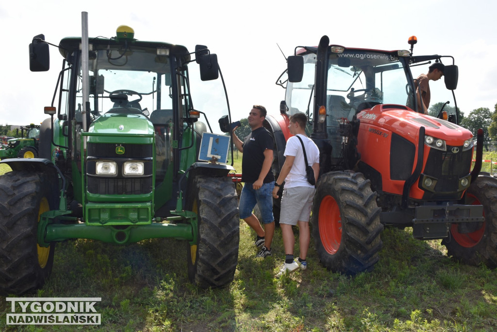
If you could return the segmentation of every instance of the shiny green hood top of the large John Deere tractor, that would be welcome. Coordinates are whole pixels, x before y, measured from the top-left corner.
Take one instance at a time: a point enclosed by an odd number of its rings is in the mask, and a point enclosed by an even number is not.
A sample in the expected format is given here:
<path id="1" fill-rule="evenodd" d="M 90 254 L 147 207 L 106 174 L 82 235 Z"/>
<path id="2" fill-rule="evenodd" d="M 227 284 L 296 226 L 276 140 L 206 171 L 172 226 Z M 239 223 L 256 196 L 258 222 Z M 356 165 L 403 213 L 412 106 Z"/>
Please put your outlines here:
<path id="1" fill-rule="evenodd" d="M 93 143 L 151 144 L 154 126 L 144 115 L 107 113 L 91 123 L 88 133 Z"/>

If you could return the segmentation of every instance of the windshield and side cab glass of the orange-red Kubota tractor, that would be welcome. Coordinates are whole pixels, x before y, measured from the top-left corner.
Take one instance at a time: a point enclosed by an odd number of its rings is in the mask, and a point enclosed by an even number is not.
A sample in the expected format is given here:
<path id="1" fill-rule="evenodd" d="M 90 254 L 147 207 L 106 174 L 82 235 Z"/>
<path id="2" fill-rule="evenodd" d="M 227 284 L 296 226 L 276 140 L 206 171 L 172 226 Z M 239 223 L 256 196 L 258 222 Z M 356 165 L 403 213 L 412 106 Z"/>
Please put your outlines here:
<path id="1" fill-rule="evenodd" d="M 304 57 L 301 82 L 288 83 L 286 103 L 289 113 L 315 112 L 313 98 L 316 54 Z M 330 53 L 326 83 L 327 132 L 332 145 L 340 144 L 338 125 L 341 118 L 351 120 L 359 111 L 378 104 L 399 104 L 414 108 L 414 93 L 408 80 L 405 61 L 391 53 L 351 49 Z M 336 142 L 335 142 L 336 141 Z M 333 149 L 332 157 L 339 157 Z M 336 154 L 336 155 L 334 155 Z"/>

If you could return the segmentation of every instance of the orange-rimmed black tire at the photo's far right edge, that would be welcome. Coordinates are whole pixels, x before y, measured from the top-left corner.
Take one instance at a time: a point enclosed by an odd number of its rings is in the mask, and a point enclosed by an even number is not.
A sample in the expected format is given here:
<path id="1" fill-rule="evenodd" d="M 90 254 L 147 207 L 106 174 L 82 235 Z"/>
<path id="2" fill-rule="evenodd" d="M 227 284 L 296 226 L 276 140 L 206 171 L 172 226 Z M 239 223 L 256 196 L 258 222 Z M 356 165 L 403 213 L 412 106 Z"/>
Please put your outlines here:
<path id="1" fill-rule="evenodd" d="M 497 267 L 497 179 L 479 176 L 466 192 L 466 204 L 483 205 L 485 221 L 470 233 L 460 233 L 457 223 L 450 227 L 450 236 L 442 240 L 447 254 L 468 265 L 484 263 Z"/>

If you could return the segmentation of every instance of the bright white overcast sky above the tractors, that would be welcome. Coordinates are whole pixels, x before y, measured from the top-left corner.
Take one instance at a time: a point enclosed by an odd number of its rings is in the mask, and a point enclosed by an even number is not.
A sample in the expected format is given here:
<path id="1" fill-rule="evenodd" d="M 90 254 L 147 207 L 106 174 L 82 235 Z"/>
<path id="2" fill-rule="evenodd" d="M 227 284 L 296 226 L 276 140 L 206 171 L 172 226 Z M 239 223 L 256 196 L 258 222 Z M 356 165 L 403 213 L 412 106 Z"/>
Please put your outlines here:
<path id="1" fill-rule="evenodd" d="M 285 70 L 285 56 L 299 45 L 317 45 L 323 35 L 332 44 L 374 49 L 409 49 L 414 55 L 452 55 L 459 67 L 457 106 L 466 115 L 478 108 L 494 111 L 497 103 L 497 2 L 490 0 L 189 0 L 189 1 L 2 1 L 0 124 L 39 123 L 52 101 L 62 57 L 50 47 L 49 72 L 29 71 L 28 45 L 43 33 L 58 45 L 81 36 L 81 13 L 88 13 L 90 37 L 115 36 L 119 25 L 135 38 L 186 46 L 207 45 L 224 76 L 234 120 L 246 117 L 253 104 L 278 113 L 284 90 L 275 85 Z M 447 64 L 447 63 L 446 63 Z M 194 66 L 193 71 L 198 71 Z M 190 69 L 191 70 L 191 69 Z M 413 70 L 415 76 L 416 73 Z M 442 80 L 430 86 L 443 86 Z M 123 87 L 125 89 L 126 87 Z M 194 91 L 195 92 L 195 91 Z M 218 94 L 219 92 L 219 94 Z M 218 92 L 194 96 L 195 108 L 226 104 Z M 206 101 L 201 101 L 205 97 Z M 432 103 L 438 100 L 432 88 Z M 200 107 L 199 107 L 199 104 Z M 452 105 L 452 104 L 451 104 Z M 217 118 L 209 118 L 211 125 Z M 217 128 L 217 126 L 216 126 Z M 216 129 L 214 129 L 216 131 Z"/>

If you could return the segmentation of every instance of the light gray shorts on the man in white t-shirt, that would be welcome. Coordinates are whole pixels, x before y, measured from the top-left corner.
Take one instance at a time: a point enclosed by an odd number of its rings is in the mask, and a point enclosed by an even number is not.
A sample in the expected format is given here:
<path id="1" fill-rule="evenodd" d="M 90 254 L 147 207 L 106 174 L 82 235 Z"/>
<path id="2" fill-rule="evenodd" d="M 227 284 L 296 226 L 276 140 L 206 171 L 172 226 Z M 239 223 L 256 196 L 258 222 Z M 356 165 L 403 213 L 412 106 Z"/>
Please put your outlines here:
<path id="1" fill-rule="evenodd" d="M 280 223 L 296 225 L 297 221 L 309 221 L 314 193 L 316 188 L 310 187 L 283 189 Z"/>

